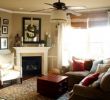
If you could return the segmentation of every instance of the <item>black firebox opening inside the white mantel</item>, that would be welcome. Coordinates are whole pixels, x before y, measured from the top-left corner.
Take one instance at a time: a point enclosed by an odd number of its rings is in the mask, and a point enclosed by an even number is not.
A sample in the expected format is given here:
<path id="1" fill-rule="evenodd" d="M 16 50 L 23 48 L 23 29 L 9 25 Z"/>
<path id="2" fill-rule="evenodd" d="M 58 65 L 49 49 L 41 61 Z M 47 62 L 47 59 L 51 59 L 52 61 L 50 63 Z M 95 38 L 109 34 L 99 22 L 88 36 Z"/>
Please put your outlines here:
<path id="1" fill-rule="evenodd" d="M 24 76 L 41 75 L 42 57 L 41 56 L 22 56 L 22 72 Z"/>

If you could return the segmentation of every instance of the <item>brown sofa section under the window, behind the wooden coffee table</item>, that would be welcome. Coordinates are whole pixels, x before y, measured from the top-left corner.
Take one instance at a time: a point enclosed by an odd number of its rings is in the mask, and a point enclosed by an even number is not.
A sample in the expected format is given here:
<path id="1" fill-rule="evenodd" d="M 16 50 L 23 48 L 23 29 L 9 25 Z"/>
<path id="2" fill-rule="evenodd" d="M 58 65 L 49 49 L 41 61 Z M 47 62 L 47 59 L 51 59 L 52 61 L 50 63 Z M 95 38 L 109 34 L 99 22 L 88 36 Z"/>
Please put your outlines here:
<path id="1" fill-rule="evenodd" d="M 73 71 L 73 69 L 71 68 L 68 68 L 68 70 L 66 69 L 65 75 L 68 76 L 68 90 L 69 91 L 73 88 L 74 84 L 78 84 L 84 77 L 86 77 L 90 73 L 92 65 L 93 65 L 93 61 L 89 60 L 85 64 L 84 71 Z"/>

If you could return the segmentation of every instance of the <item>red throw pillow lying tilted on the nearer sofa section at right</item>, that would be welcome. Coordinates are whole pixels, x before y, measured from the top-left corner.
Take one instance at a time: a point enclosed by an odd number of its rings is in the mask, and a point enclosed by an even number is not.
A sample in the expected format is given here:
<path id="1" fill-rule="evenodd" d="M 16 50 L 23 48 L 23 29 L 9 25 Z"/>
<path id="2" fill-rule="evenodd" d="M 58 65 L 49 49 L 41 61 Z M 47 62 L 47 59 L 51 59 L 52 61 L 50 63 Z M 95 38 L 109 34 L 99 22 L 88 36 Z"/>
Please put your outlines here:
<path id="1" fill-rule="evenodd" d="M 98 76 L 99 76 L 99 73 L 88 75 L 80 82 L 80 84 L 84 86 L 89 86 L 90 84 L 92 84 L 94 81 L 98 79 Z"/>

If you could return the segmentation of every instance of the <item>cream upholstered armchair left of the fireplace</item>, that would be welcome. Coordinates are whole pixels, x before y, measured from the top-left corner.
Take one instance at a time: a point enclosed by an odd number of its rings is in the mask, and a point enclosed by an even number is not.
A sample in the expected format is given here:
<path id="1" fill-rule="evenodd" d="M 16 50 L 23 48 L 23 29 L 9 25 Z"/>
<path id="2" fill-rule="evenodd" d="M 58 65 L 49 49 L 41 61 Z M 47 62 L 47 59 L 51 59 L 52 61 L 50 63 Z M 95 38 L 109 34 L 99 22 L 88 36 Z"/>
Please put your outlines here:
<path id="1" fill-rule="evenodd" d="M 0 54 L 0 86 L 13 79 L 22 82 L 22 67 L 14 64 L 14 53 Z"/>

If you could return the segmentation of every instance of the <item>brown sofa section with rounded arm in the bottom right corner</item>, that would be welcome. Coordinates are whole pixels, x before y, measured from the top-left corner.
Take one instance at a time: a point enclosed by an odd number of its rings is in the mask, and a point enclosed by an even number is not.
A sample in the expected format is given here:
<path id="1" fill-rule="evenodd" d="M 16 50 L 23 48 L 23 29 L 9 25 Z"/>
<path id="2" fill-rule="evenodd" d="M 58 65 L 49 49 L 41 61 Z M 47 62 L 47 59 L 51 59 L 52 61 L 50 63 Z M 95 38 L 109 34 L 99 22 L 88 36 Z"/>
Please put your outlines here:
<path id="1" fill-rule="evenodd" d="M 89 86 L 75 84 L 69 100 L 110 100 L 110 68 Z"/>

